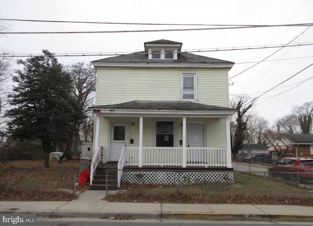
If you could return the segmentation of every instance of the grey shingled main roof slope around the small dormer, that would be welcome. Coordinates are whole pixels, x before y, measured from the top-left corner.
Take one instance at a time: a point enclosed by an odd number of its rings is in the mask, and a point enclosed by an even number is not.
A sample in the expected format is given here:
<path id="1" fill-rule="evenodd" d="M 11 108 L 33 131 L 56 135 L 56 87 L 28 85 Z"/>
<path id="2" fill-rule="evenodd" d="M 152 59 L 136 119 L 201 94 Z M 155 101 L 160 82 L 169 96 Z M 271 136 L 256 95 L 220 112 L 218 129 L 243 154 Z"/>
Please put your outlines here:
<path id="1" fill-rule="evenodd" d="M 219 60 L 210 57 L 195 55 L 192 53 L 179 53 L 177 60 L 149 60 L 148 54 L 144 51 L 131 54 L 125 54 L 117 57 L 109 57 L 93 62 L 111 62 L 111 63 L 216 63 L 216 64 L 234 64 L 233 62 Z"/>

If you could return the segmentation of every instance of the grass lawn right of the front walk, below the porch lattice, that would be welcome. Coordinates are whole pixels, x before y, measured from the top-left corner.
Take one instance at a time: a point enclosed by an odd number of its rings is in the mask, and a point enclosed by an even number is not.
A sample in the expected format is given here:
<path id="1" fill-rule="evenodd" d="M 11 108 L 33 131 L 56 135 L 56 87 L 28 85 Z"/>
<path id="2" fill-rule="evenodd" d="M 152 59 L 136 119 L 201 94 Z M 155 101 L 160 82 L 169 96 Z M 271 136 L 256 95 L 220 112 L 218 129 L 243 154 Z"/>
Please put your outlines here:
<path id="1" fill-rule="evenodd" d="M 284 204 L 313 205 L 308 188 L 271 179 L 234 173 L 234 184 L 201 183 L 177 185 L 132 185 L 123 183 L 122 192 L 109 195 L 112 202 L 204 203 L 204 204 Z M 127 191 L 123 191 L 127 190 Z"/>

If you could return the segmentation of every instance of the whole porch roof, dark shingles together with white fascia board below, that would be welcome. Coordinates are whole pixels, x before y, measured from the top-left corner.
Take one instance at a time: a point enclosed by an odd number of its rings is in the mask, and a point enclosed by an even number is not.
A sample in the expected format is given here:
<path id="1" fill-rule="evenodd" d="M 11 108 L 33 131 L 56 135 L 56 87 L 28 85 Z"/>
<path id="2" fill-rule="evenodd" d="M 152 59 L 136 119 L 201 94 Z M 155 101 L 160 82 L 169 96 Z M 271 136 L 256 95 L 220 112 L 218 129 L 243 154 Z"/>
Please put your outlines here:
<path id="1" fill-rule="evenodd" d="M 89 107 L 94 113 L 111 114 L 178 114 L 178 115 L 232 115 L 236 109 L 194 103 L 190 101 L 140 101 Z"/>

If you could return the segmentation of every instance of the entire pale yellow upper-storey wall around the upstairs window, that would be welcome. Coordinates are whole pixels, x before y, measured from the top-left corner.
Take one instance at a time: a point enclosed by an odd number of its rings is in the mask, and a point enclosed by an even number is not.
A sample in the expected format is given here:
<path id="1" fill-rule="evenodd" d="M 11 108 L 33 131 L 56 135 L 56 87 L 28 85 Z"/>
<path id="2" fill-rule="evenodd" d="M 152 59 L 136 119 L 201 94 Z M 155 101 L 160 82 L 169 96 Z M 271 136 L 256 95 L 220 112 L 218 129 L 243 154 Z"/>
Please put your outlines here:
<path id="1" fill-rule="evenodd" d="M 197 73 L 198 103 L 228 107 L 227 68 L 98 68 L 95 105 L 180 101 L 181 72 Z"/>

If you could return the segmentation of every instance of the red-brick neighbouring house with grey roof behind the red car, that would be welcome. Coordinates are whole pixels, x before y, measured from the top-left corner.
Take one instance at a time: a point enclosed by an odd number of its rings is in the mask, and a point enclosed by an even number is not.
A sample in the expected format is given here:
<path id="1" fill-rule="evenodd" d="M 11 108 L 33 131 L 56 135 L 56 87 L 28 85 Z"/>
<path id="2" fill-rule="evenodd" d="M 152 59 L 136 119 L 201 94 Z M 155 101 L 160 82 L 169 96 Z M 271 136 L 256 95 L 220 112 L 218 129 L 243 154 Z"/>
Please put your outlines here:
<path id="1" fill-rule="evenodd" d="M 271 144 L 268 152 L 281 152 L 283 157 L 313 157 L 313 134 L 281 134 Z"/>

